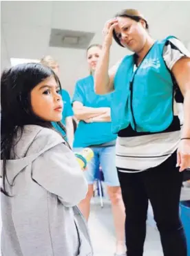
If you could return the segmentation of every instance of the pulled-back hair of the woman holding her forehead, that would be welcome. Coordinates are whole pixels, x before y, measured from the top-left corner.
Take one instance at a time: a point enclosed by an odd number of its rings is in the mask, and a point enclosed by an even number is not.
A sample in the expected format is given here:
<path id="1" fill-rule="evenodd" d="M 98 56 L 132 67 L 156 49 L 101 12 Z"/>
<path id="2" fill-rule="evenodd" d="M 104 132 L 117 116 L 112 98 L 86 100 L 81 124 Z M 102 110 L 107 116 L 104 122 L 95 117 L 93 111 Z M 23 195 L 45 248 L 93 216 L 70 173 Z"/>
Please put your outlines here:
<path id="1" fill-rule="evenodd" d="M 142 19 L 143 21 L 145 21 L 146 29 L 149 30 L 149 24 L 147 23 L 145 18 L 142 17 L 140 12 L 138 12 L 138 10 L 134 10 L 134 9 L 122 10 L 122 11 L 118 12 L 115 15 L 115 17 L 124 17 L 124 18 L 126 17 L 126 18 L 133 19 L 136 22 L 139 22 Z M 116 43 L 118 43 L 120 46 L 124 47 L 122 44 L 120 44 L 120 39 L 116 35 L 116 31 L 115 30 L 113 30 L 113 37 L 114 37 Z"/>

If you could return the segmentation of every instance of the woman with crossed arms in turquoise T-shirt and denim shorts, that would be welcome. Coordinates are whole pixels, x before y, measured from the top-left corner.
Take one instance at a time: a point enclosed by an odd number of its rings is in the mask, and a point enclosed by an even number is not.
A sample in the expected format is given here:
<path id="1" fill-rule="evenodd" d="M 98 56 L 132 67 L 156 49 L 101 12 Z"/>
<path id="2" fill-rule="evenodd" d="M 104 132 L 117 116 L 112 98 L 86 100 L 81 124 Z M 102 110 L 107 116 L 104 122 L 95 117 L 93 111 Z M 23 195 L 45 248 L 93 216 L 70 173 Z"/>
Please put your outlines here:
<path id="1" fill-rule="evenodd" d="M 100 55 L 100 45 L 89 46 L 87 63 L 91 75 L 76 82 L 73 97 L 74 114 L 79 120 L 74 136 L 74 149 L 80 151 L 83 147 L 91 147 L 94 151 L 94 158 L 89 163 L 87 172 L 84 173 L 89 184 L 88 193 L 79 207 L 85 218 L 88 219 L 93 184 L 101 167 L 112 203 L 117 240 L 116 255 L 125 255 L 125 212 L 115 162 L 116 134 L 112 134 L 111 131 L 110 104 L 112 94 L 99 96 L 94 92 L 93 74 Z"/>

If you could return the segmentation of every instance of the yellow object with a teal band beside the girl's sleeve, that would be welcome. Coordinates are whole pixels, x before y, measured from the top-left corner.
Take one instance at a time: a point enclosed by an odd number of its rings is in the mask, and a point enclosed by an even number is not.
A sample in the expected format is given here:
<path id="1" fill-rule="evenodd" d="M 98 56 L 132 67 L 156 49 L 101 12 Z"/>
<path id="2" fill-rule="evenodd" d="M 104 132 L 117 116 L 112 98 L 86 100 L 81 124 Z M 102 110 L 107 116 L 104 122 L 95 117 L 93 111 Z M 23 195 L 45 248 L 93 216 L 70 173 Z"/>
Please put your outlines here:
<path id="1" fill-rule="evenodd" d="M 75 153 L 75 156 L 81 169 L 84 169 L 87 163 L 94 157 L 94 152 L 89 147 L 86 147 L 81 152 Z"/>

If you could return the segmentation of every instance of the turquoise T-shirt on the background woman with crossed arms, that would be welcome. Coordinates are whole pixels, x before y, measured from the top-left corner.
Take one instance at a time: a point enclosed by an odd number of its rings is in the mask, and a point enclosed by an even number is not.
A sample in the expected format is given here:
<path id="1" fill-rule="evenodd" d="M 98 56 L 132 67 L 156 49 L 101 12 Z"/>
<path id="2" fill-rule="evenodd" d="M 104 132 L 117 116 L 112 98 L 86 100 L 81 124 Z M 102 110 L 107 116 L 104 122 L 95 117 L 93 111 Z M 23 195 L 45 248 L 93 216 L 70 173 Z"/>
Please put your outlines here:
<path id="1" fill-rule="evenodd" d="M 112 95 L 96 95 L 94 92 L 94 78 L 92 75 L 76 82 L 73 102 L 83 103 L 85 107 L 110 107 Z M 74 147 L 89 147 L 90 145 L 100 145 L 116 139 L 116 134 L 112 134 L 111 122 L 80 121 L 74 135 Z"/>

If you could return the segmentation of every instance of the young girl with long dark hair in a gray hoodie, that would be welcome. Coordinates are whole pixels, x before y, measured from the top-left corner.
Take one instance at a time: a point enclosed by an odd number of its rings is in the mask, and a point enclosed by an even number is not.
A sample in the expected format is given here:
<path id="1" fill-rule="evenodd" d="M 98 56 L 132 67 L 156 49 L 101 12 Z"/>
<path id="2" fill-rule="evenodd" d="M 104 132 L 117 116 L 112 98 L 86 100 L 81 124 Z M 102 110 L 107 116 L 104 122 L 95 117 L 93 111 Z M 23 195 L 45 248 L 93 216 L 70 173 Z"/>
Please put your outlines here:
<path id="1" fill-rule="evenodd" d="M 87 182 L 51 125 L 62 118 L 60 90 L 54 71 L 41 64 L 14 66 L 1 76 L 3 256 L 93 255 L 76 207 Z"/>

